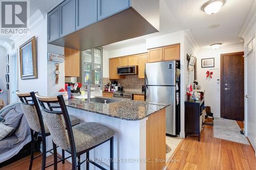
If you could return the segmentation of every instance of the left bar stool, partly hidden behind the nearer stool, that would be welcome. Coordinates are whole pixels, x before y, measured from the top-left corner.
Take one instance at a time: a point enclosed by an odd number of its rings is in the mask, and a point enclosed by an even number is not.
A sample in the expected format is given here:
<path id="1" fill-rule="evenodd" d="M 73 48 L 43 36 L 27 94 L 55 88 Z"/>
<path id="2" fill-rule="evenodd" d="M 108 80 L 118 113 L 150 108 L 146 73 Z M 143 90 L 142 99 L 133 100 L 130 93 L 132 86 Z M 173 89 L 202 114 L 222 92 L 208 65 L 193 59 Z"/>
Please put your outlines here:
<path id="1" fill-rule="evenodd" d="M 26 116 L 26 119 L 30 127 L 30 132 L 31 132 L 31 158 L 30 158 L 29 170 L 32 169 L 33 160 L 41 155 L 42 155 L 41 169 L 45 169 L 49 166 L 54 165 L 53 163 L 46 166 L 46 153 L 50 152 L 53 155 L 54 154 L 57 155 L 57 153 L 52 152 L 52 150 L 54 149 L 46 151 L 46 137 L 51 134 L 47 125 L 44 123 L 44 118 L 41 115 L 41 110 L 38 105 L 37 99 L 35 97 L 35 93 L 34 92 L 20 93 L 17 90 L 16 94 L 19 100 L 22 102 L 21 107 Z M 79 118 L 75 116 L 70 116 L 70 117 L 71 117 L 72 126 L 80 124 L 81 120 Z M 41 136 L 41 140 L 42 140 L 42 154 L 37 155 L 36 157 L 34 157 L 34 132 L 37 132 L 39 136 Z M 58 158 L 60 159 L 60 161 L 62 161 L 62 163 L 65 163 L 65 159 L 68 159 L 70 157 L 65 158 L 65 151 L 62 150 L 62 157 L 58 157 Z"/>

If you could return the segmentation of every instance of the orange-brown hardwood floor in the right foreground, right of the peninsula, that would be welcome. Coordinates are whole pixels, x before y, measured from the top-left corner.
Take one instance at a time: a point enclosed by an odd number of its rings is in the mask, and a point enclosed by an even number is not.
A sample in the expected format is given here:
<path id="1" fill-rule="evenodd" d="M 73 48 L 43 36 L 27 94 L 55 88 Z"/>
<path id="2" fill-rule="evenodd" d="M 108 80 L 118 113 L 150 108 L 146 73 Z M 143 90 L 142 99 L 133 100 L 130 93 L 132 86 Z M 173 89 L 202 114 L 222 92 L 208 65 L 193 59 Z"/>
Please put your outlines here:
<path id="1" fill-rule="evenodd" d="M 212 126 L 205 126 L 200 142 L 183 139 L 173 160 L 179 162 L 167 163 L 167 169 L 256 169 L 251 145 L 214 138 Z"/>

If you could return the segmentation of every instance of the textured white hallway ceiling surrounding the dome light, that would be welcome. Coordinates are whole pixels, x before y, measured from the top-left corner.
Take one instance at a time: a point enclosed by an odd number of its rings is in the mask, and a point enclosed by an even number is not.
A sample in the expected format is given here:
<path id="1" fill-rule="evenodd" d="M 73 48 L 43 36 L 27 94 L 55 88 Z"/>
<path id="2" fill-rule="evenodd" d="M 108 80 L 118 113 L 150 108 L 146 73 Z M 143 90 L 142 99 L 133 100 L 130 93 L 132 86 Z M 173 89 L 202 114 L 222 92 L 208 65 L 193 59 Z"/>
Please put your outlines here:
<path id="1" fill-rule="evenodd" d="M 221 42 L 222 46 L 241 44 L 238 34 L 254 0 L 226 0 L 221 10 L 208 15 L 201 7 L 208 0 L 165 0 L 182 29 L 190 29 L 200 49 Z M 219 24 L 215 29 L 210 25 Z"/>

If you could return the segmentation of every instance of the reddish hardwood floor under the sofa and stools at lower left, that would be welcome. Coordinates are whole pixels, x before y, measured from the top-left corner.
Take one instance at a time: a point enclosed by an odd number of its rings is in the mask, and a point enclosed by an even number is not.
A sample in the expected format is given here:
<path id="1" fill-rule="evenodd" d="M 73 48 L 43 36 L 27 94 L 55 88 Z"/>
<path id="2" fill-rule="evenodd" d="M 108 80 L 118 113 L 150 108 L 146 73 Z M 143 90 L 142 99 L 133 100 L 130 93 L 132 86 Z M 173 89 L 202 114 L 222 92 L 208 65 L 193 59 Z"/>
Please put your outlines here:
<path id="1" fill-rule="evenodd" d="M 38 155 L 39 153 L 35 153 L 35 156 Z M 4 166 L 2 168 L 0 168 L 1 170 L 26 170 L 29 169 L 29 163 L 30 163 L 30 155 L 20 159 L 12 164 L 9 164 L 7 166 Z M 42 158 L 38 157 L 36 159 L 34 159 L 33 161 L 33 166 L 32 166 L 32 170 L 41 170 L 41 163 L 42 163 Z M 53 155 L 47 157 L 46 159 L 46 166 L 49 164 L 53 163 Z M 47 170 L 51 170 L 53 169 L 53 166 L 50 166 L 48 168 L 46 168 Z M 61 162 L 58 163 L 58 169 L 61 170 L 66 170 L 66 169 L 72 169 L 72 164 L 69 161 L 65 161 L 65 164 L 62 164 Z"/>

